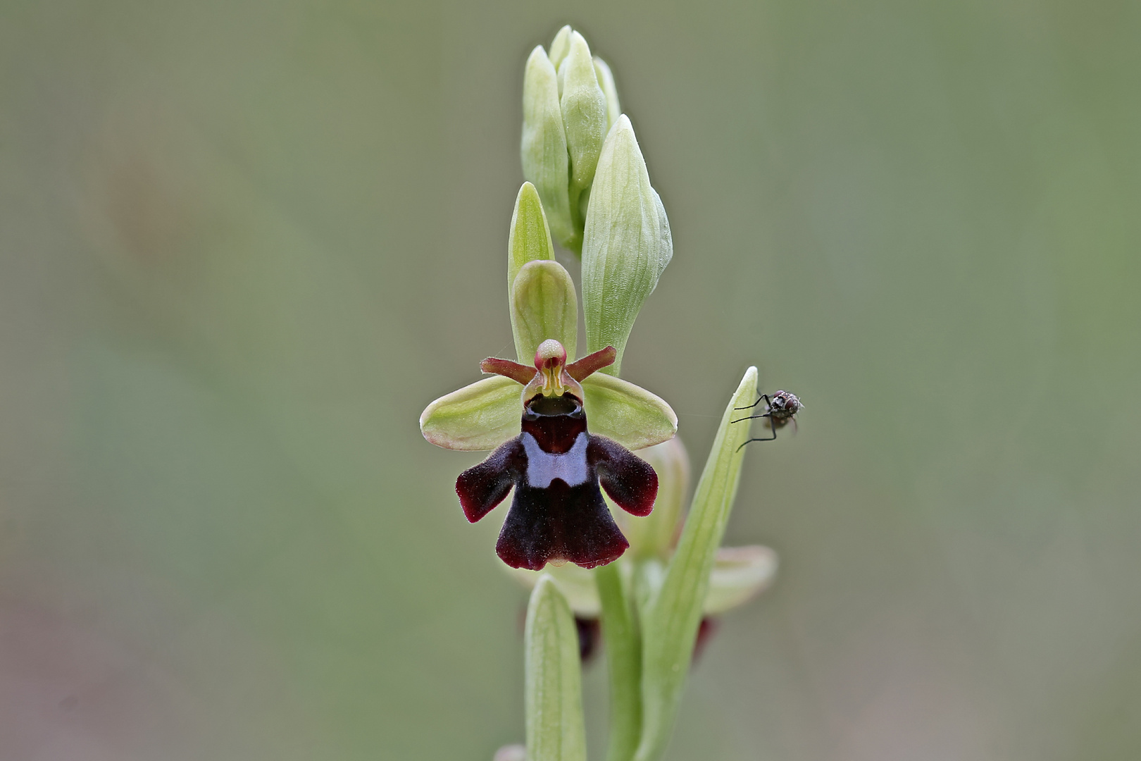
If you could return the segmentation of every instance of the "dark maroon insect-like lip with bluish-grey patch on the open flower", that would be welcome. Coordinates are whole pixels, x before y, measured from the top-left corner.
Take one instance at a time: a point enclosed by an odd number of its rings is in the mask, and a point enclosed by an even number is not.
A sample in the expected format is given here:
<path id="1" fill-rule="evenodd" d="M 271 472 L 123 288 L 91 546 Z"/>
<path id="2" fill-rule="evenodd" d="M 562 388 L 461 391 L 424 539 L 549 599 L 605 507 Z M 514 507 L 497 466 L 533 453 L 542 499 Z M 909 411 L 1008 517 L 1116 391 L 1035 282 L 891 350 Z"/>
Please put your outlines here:
<path id="1" fill-rule="evenodd" d="M 582 400 L 572 394 L 532 397 L 521 429 L 460 473 L 455 492 L 464 516 L 479 520 L 513 486 L 495 544 L 503 562 L 540 570 L 548 562 L 593 568 L 617 559 L 630 543 L 610 517 L 601 488 L 623 510 L 647 516 L 657 496 L 657 473 L 617 442 L 592 436 Z"/>

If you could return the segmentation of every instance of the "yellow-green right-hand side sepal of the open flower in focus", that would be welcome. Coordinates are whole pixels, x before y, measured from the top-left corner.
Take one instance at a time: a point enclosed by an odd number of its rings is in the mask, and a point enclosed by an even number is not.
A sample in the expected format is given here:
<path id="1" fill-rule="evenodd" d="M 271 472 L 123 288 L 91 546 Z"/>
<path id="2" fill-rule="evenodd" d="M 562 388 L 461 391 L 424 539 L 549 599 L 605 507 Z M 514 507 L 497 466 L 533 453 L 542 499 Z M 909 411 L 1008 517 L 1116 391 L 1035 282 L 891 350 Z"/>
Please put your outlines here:
<path id="1" fill-rule="evenodd" d="M 583 379 L 590 432 L 613 438 L 628 450 L 661 444 L 678 432 L 678 415 L 640 386 L 597 372 Z"/>

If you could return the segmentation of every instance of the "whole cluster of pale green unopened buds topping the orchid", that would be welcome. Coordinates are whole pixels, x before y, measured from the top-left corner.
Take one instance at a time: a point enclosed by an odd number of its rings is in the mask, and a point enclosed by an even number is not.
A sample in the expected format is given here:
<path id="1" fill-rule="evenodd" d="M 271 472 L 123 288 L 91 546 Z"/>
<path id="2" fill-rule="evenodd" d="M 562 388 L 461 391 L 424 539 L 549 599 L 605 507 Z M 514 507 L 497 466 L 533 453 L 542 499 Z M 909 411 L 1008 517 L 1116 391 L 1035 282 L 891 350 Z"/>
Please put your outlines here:
<path id="1" fill-rule="evenodd" d="M 569 26 L 527 59 L 521 156 L 552 237 L 582 257 L 588 349 L 615 347 L 616 375 L 673 238 L 610 67 Z"/>

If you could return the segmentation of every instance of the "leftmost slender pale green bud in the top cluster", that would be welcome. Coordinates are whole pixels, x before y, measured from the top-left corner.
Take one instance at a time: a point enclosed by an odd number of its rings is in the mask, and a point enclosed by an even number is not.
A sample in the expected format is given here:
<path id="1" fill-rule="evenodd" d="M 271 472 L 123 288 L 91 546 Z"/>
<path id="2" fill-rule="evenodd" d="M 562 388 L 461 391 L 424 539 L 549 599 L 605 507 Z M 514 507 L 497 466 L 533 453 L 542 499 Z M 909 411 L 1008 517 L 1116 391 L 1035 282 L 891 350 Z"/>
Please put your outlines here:
<path id="1" fill-rule="evenodd" d="M 581 236 L 570 219 L 569 172 L 563 110 L 555 66 L 542 46 L 531 51 L 523 78 L 524 178 L 534 184 L 543 201 L 551 233 L 560 243 L 581 245 Z"/>

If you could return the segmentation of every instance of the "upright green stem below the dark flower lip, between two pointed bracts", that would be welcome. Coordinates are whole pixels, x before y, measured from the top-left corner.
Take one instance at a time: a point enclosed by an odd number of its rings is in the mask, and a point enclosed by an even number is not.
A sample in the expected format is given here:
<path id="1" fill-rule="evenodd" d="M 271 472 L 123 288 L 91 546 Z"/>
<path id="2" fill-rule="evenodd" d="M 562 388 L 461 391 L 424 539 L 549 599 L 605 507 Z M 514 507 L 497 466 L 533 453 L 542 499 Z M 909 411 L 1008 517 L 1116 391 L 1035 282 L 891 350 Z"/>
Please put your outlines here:
<path id="1" fill-rule="evenodd" d="M 594 572 L 602 604 L 602 641 L 610 677 L 610 746 L 607 761 L 630 761 L 641 738 L 641 642 L 618 564 Z"/>

